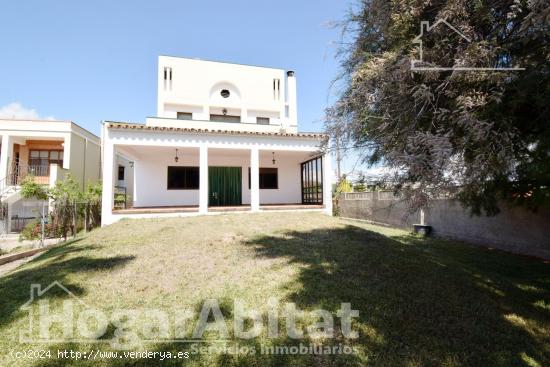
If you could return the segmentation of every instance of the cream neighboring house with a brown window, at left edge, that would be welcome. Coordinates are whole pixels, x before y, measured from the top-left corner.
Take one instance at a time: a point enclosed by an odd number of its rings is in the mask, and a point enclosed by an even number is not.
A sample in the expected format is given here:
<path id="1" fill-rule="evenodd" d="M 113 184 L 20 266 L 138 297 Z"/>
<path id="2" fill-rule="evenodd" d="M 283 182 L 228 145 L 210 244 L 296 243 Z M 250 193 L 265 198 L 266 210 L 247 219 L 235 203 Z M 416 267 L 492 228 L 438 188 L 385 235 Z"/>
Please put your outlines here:
<path id="1" fill-rule="evenodd" d="M 83 190 L 100 179 L 100 140 L 73 122 L 0 119 L 0 135 L 0 234 L 40 216 L 42 203 L 21 197 L 26 176 L 54 185 L 70 172 Z"/>

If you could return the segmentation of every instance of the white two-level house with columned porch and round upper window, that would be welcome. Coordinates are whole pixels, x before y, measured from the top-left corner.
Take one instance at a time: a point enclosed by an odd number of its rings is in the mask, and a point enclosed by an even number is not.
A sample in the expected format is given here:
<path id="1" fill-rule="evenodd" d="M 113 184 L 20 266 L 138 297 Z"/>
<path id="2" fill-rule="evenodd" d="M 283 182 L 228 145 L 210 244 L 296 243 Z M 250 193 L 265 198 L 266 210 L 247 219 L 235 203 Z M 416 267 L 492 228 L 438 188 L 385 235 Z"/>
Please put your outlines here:
<path id="1" fill-rule="evenodd" d="M 161 56 L 157 117 L 103 122 L 102 223 L 219 211 L 331 214 L 326 138 L 298 132 L 292 71 Z M 133 174 L 126 209 L 115 207 L 121 165 L 124 181 Z"/>

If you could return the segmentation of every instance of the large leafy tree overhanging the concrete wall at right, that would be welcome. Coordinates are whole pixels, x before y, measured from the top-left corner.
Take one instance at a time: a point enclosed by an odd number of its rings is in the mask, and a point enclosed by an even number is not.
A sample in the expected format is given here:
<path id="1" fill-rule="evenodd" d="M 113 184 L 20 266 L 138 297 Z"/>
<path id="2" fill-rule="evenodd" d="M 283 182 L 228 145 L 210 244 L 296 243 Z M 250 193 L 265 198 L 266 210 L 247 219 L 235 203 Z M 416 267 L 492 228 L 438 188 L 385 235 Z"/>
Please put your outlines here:
<path id="1" fill-rule="evenodd" d="M 550 2 L 362 0 L 345 22 L 344 88 L 327 129 L 393 169 L 412 208 L 441 195 L 476 214 L 550 204 Z M 520 71 L 412 70 L 424 67 Z M 427 34 L 429 33 L 429 35 Z M 343 133 L 345 132 L 345 133 Z"/>

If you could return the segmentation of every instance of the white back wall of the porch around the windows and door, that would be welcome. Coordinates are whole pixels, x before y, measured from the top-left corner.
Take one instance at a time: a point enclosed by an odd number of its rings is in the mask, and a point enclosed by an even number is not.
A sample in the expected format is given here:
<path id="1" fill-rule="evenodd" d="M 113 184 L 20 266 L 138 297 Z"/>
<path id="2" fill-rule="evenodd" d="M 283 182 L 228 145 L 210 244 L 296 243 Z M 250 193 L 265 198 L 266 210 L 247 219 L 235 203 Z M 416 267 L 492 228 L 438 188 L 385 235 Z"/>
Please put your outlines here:
<path id="1" fill-rule="evenodd" d="M 168 166 L 199 166 L 198 154 L 180 155 L 176 164 L 169 153 L 148 154 L 147 160 L 135 163 L 135 207 L 199 205 L 199 190 L 167 190 Z M 276 160 L 260 156 L 260 168 L 278 168 L 278 189 L 260 189 L 260 204 L 296 204 L 301 202 L 300 163 L 303 158 L 285 155 Z M 250 205 L 248 168 L 250 154 L 223 154 L 215 149 L 208 152 L 208 166 L 241 167 L 242 203 Z"/>

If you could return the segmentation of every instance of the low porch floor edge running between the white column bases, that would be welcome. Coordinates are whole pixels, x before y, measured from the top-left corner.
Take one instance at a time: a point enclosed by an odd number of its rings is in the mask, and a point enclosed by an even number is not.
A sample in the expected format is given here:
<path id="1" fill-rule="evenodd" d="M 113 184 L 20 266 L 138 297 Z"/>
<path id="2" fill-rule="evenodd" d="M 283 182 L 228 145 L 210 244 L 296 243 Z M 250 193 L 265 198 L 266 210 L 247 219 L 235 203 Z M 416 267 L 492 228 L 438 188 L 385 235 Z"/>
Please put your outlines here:
<path id="1" fill-rule="evenodd" d="M 261 204 L 260 210 L 304 210 L 323 209 L 323 205 L 313 204 Z M 113 209 L 113 214 L 160 214 L 160 213 L 196 213 L 198 205 L 188 206 L 147 206 L 128 209 Z M 208 212 L 245 212 L 250 211 L 250 205 L 209 206 Z"/>

